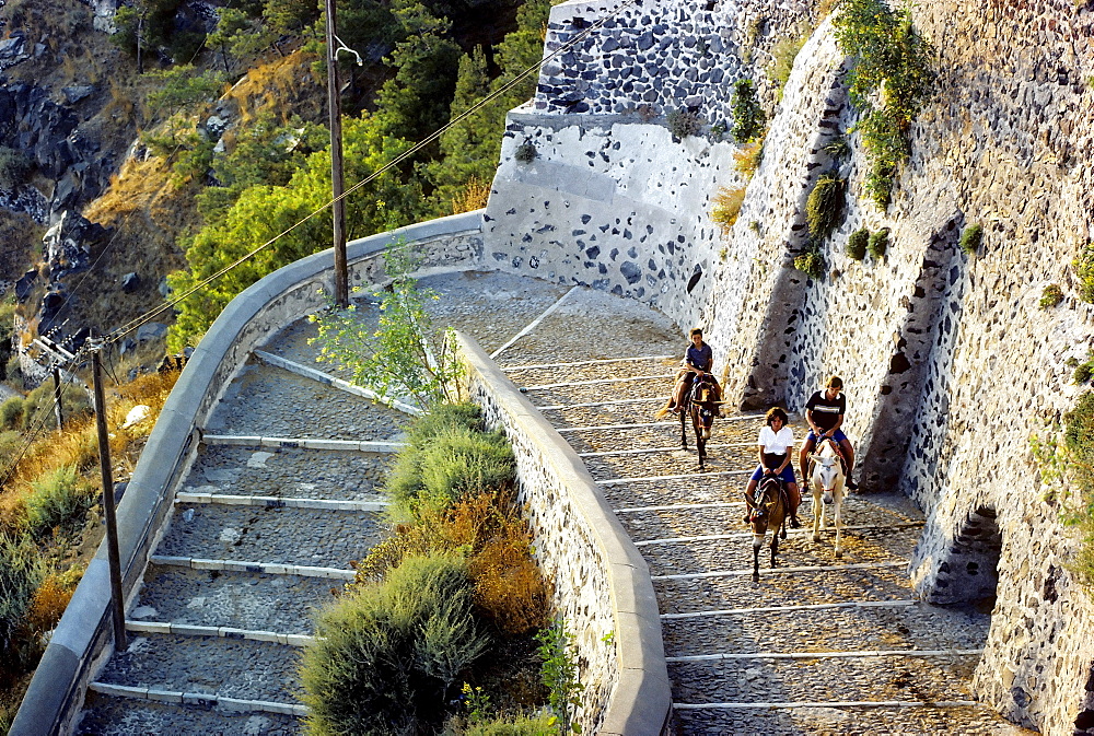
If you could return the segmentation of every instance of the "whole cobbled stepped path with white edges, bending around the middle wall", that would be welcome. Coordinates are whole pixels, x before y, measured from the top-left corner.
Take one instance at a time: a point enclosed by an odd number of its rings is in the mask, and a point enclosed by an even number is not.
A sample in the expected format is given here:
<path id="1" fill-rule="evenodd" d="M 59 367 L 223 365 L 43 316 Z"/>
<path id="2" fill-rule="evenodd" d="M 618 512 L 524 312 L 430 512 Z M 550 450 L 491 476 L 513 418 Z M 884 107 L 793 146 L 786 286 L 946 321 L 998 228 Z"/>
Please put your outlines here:
<path id="1" fill-rule="evenodd" d="M 759 422 L 718 422 L 710 472 L 694 475 L 675 425 L 652 421 L 684 344 L 666 318 L 500 273 L 426 283 L 442 295 L 438 322 L 498 351 L 585 456 L 649 560 L 680 734 L 1000 733 L 984 708 L 922 704 L 970 700 L 966 652 L 988 618 L 911 600 L 921 517 L 907 502 L 852 498 L 842 564 L 829 540 L 795 533 L 784 566 L 754 585 L 737 490 Z M 288 363 L 256 355 L 203 428 L 129 611 L 130 645 L 92 686 L 79 733 L 301 732 L 299 647 L 385 534 L 376 486 L 408 421 L 293 372 L 344 375 L 316 366 L 312 335 L 301 322 L 276 336 L 264 351 Z"/>

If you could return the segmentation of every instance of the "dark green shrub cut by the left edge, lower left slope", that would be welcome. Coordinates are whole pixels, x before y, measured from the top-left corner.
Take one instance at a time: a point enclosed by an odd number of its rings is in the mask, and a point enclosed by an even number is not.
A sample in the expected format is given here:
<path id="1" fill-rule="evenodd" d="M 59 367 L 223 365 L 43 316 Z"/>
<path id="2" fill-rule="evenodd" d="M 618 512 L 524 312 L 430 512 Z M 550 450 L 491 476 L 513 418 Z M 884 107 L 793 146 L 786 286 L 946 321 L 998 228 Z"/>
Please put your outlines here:
<path id="1" fill-rule="evenodd" d="M 7 673 L 21 671 L 33 656 L 27 616 L 45 568 L 34 545 L 0 534 L 0 664 Z"/>

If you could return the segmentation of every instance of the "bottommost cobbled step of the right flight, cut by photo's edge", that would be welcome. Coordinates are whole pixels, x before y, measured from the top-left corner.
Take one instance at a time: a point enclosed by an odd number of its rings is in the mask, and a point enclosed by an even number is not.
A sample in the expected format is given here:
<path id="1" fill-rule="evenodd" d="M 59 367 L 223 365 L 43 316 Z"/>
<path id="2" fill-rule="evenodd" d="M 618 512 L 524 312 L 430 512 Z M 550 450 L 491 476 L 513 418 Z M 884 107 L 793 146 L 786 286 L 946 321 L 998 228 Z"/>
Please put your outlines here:
<path id="1" fill-rule="evenodd" d="M 771 700 L 775 700 L 772 698 Z M 951 706 L 923 705 L 909 693 L 906 704 L 848 705 L 843 698 L 822 702 L 780 704 L 772 708 L 763 693 L 745 706 L 699 708 L 674 703 L 680 736 L 708 734 L 763 734 L 764 736 L 798 736 L 799 734 L 838 734 L 839 736 L 875 736 L 877 734 L 961 734 L 961 736 L 998 736 L 999 716 L 978 704 Z M 965 701 L 968 698 L 963 699 Z"/>

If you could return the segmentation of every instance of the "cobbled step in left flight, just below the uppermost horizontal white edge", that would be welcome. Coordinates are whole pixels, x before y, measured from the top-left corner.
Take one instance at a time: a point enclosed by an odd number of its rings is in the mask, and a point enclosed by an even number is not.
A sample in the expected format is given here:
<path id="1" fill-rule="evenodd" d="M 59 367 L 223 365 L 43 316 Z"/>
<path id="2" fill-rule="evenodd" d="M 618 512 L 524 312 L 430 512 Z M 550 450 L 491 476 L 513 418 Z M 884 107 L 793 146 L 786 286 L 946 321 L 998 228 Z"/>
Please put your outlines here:
<path id="1" fill-rule="evenodd" d="M 393 456 L 206 445 L 183 489 L 196 493 L 379 501 Z"/>

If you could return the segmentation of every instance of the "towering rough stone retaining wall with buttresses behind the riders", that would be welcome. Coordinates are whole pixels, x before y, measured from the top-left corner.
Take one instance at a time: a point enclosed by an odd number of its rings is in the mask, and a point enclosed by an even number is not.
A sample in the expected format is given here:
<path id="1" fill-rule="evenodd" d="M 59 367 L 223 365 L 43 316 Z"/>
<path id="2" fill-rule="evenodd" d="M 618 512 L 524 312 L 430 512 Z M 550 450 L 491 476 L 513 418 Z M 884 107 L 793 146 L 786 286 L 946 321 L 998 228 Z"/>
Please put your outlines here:
<path id="1" fill-rule="evenodd" d="M 917 589 L 936 603 L 997 596 L 979 697 L 1045 733 L 1086 733 L 1094 608 L 1067 570 L 1075 542 L 1044 500 L 1028 441 L 1081 393 L 1064 361 L 1085 360 L 1094 336 L 1094 307 L 1079 301 L 1071 271 L 1094 237 L 1094 9 L 913 8 L 938 78 L 912 157 L 880 211 L 862 195 L 864 155 L 849 137 L 846 217 L 814 281 L 791 264 L 812 184 L 839 165 L 822 147 L 856 119 L 848 60 L 822 23 L 723 235 L 709 202 L 744 185 L 735 148 L 706 132 L 674 140 L 659 116 L 690 106 L 710 125 L 725 119 L 732 82 L 761 78 L 804 9 L 709 8 L 625 10 L 545 66 L 536 98 L 510 117 L 487 257 L 702 324 L 726 362 L 728 395 L 744 405 L 800 410 L 826 374 L 840 374 L 864 490 L 899 488 L 928 513 Z M 607 12 L 556 8 L 547 51 Z M 652 84 L 666 74 L 674 83 Z M 524 142 L 537 153 L 526 163 L 513 159 Z M 966 255 L 957 243 L 973 223 L 984 246 Z M 862 226 L 889 230 L 884 258 L 846 255 Z M 1049 283 L 1066 297 L 1041 309 Z"/>

